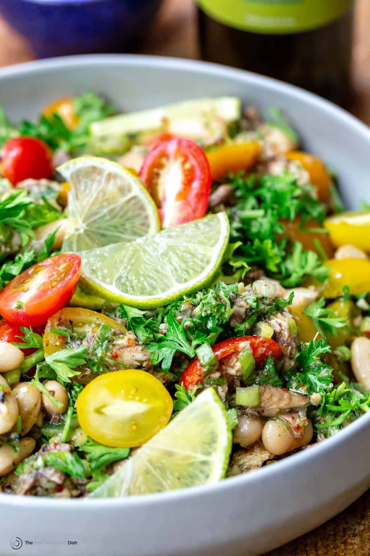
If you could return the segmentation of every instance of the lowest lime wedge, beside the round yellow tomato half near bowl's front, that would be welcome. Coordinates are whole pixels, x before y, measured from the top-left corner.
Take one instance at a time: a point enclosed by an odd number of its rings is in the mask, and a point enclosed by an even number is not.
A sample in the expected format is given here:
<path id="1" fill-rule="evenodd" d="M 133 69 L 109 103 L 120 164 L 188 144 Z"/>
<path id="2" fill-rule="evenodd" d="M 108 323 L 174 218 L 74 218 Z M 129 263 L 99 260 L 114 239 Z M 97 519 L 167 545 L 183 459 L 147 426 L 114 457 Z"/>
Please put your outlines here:
<path id="1" fill-rule="evenodd" d="M 90 497 L 165 492 L 216 483 L 229 463 L 232 435 L 213 388 L 204 390 Z"/>

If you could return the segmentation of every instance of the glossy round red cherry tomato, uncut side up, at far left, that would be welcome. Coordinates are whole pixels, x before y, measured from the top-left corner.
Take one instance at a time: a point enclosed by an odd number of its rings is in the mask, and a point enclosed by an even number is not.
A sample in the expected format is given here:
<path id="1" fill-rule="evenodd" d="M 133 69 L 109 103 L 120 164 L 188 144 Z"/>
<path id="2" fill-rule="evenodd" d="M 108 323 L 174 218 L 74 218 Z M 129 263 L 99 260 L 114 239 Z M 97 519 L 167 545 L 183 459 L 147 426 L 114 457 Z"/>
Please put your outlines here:
<path id="1" fill-rule="evenodd" d="M 19 181 L 49 178 L 53 173 L 50 147 L 34 137 L 16 137 L 7 141 L 2 150 L 3 174 L 16 185 Z"/>

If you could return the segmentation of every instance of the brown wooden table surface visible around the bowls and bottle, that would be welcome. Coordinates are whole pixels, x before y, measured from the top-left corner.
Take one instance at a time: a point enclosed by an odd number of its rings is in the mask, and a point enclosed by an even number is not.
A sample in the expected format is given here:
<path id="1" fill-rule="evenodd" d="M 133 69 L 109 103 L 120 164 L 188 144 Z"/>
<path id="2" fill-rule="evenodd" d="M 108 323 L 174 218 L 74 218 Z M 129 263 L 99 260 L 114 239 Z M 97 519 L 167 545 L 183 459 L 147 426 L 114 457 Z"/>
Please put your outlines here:
<path id="1" fill-rule="evenodd" d="M 325 0 L 323 0 L 325 1 Z M 357 0 L 351 112 L 370 125 L 370 0 Z M 0 18 L 0 66 L 33 59 L 27 43 Z M 197 58 L 192 0 L 165 0 L 140 52 Z M 370 491 L 311 533 L 273 550 L 270 556 L 370 555 Z"/>

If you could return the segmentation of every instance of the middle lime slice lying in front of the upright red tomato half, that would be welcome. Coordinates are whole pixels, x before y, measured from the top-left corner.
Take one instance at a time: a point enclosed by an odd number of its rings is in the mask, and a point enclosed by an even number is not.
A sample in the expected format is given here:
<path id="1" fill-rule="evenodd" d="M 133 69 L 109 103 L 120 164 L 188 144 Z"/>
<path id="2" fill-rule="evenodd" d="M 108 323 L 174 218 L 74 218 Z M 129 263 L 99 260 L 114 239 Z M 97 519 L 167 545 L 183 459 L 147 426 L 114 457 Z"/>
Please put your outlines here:
<path id="1" fill-rule="evenodd" d="M 228 241 L 229 220 L 219 212 L 129 244 L 84 251 L 80 281 L 111 302 L 159 307 L 204 287 Z"/>

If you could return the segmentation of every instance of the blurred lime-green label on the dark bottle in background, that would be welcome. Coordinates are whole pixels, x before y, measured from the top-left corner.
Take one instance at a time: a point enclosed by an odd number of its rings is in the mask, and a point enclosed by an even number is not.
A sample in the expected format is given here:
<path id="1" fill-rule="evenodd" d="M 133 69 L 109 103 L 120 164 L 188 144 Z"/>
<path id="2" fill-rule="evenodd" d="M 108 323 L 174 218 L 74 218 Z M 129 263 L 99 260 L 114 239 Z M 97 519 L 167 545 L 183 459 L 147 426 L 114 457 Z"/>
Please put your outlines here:
<path id="1" fill-rule="evenodd" d="M 353 0 L 197 0 L 212 19 L 262 34 L 310 31 L 342 16 Z"/>

